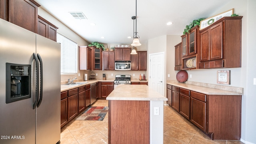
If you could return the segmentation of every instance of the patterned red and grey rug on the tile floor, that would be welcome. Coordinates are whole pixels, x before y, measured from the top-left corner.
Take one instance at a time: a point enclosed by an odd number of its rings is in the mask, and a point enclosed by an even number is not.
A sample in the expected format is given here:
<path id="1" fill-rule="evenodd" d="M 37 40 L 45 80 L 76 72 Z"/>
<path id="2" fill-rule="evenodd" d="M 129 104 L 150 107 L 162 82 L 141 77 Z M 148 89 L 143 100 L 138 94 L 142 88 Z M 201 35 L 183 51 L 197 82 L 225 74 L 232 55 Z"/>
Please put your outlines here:
<path id="1" fill-rule="evenodd" d="M 108 106 L 89 106 L 76 120 L 104 120 Z"/>

